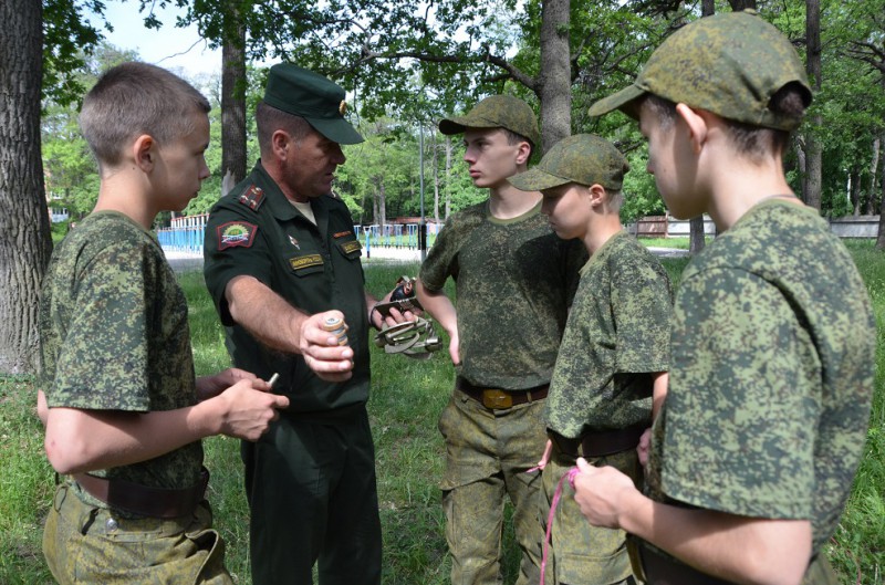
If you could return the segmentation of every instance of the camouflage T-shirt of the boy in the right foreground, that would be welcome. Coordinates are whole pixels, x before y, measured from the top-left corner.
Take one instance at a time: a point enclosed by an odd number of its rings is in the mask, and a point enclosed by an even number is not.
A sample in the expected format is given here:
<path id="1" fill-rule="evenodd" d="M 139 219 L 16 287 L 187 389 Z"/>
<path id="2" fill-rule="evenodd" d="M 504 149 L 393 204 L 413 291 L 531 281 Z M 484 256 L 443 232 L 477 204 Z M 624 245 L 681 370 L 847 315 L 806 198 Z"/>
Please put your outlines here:
<path id="1" fill-rule="evenodd" d="M 811 519 L 813 551 L 851 490 L 870 416 L 875 321 L 816 211 L 769 200 L 685 270 L 649 494 Z"/>

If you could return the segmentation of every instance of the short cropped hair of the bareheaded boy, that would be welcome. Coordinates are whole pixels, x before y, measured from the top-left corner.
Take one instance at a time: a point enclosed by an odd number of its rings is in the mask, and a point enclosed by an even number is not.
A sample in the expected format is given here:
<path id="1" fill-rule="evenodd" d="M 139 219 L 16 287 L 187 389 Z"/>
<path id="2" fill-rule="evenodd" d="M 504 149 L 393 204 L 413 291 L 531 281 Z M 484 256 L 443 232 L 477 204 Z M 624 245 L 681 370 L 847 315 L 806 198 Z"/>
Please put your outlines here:
<path id="1" fill-rule="evenodd" d="M 122 63 L 83 100 L 80 128 L 98 166 L 116 166 L 127 145 L 147 134 L 160 145 L 194 132 L 209 101 L 181 77 L 147 63 Z"/>

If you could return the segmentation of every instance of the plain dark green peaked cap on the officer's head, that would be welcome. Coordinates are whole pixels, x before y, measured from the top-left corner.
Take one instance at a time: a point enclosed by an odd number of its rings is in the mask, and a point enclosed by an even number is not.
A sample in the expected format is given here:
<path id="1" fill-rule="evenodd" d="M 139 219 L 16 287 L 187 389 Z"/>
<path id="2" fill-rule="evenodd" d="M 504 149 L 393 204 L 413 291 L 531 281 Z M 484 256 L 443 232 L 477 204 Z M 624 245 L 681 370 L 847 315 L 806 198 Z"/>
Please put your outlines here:
<path id="1" fill-rule="evenodd" d="M 300 116 L 320 134 L 339 144 L 357 144 L 363 137 L 344 119 L 344 90 L 319 73 L 291 63 L 270 67 L 264 103 Z"/>

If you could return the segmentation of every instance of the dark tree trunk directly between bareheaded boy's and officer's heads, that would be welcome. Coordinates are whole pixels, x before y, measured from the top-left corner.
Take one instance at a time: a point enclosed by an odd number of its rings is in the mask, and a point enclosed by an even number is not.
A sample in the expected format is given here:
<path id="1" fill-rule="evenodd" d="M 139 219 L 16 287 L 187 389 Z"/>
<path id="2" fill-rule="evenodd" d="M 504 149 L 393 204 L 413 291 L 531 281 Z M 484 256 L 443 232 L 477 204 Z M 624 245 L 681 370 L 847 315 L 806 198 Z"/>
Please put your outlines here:
<path id="1" fill-rule="evenodd" d="M 246 177 L 246 27 L 236 8 L 225 17 L 221 48 L 221 176 Z M 226 194 L 221 194 L 226 195 Z"/>

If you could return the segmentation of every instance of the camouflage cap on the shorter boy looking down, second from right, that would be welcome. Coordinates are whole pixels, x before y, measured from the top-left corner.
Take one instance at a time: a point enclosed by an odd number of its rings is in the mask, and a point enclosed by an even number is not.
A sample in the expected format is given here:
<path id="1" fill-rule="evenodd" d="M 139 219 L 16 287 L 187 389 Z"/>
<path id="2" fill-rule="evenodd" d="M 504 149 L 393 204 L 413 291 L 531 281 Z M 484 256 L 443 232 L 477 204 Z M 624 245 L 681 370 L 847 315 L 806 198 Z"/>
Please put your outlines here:
<path id="1" fill-rule="evenodd" d="M 553 145 L 537 167 L 510 177 L 522 191 L 552 189 L 566 182 L 602 185 L 620 191 L 629 164 L 615 146 L 593 134 L 575 134 Z"/>

